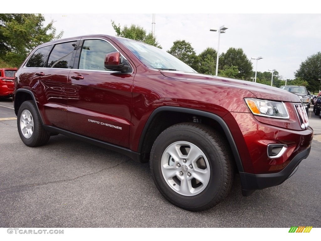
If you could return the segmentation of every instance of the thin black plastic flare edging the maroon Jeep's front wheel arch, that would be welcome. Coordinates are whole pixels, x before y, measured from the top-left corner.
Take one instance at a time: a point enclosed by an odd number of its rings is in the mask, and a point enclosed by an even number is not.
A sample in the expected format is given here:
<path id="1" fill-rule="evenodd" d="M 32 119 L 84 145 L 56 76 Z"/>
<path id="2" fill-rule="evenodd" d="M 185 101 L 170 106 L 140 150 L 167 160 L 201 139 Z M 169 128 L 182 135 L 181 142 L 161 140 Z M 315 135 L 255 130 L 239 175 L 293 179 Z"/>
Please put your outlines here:
<path id="1" fill-rule="evenodd" d="M 175 106 L 161 106 L 161 107 L 157 108 L 156 110 L 154 110 L 152 112 L 152 114 L 150 115 L 150 117 L 148 118 L 148 120 L 145 124 L 145 127 L 143 129 L 143 132 L 141 134 L 141 138 L 139 140 L 139 145 L 138 145 L 138 153 L 142 153 L 144 138 L 146 136 L 148 127 L 152 123 L 152 120 L 154 119 L 154 117 L 158 113 L 164 112 L 164 111 L 181 112 L 181 113 L 188 113 L 188 114 L 193 114 L 193 115 L 197 115 L 197 116 L 204 116 L 204 117 L 208 117 L 210 119 L 217 121 L 221 125 L 221 127 L 227 137 L 227 140 L 230 144 L 230 147 L 233 152 L 235 162 L 236 162 L 239 172 L 244 172 L 243 164 L 242 164 L 241 158 L 239 156 L 239 150 L 235 144 L 232 133 L 230 132 L 230 129 L 229 129 L 228 125 L 225 123 L 225 121 L 220 116 L 218 116 L 216 114 L 213 114 L 210 112 L 205 112 L 205 111 L 200 111 L 200 110 L 195 110 L 195 109 L 175 107 Z"/>

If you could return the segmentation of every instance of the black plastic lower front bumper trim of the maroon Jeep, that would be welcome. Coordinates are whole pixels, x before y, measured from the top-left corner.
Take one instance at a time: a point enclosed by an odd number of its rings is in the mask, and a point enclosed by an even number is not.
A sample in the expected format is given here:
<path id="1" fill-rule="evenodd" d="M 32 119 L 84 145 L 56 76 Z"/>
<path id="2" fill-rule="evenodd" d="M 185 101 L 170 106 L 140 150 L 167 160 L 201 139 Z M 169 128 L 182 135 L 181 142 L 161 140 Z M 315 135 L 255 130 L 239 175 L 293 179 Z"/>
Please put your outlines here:
<path id="1" fill-rule="evenodd" d="M 298 153 L 296 156 L 294 156 L 291 162 L 278 173 L 251 174 L 240 172 L 239 175 L 242 183 L 243 196 L 249 196 L 252 192 L 254 192 L 254 190 L 257 189 L 273 187 L 283 183 L 298 169 L 300 162 L 308 157 L 310 150 L 311 146 Z"/>

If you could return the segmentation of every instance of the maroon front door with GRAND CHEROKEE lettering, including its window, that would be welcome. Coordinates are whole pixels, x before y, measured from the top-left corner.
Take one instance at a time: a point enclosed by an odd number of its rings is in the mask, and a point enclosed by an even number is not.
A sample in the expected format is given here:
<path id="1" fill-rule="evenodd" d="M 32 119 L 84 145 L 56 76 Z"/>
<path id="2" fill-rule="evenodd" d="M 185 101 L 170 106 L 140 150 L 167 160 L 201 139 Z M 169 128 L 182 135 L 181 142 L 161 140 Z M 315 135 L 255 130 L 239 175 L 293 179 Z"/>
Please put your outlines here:
<path id="1" fill-rule="evenodd" d="M 118 51 L 105 39 L 82 39 L 68 78 L 68 125 L 75 133 L 128 147 L 132 73 L 106 69 L 107 53 Z"/>

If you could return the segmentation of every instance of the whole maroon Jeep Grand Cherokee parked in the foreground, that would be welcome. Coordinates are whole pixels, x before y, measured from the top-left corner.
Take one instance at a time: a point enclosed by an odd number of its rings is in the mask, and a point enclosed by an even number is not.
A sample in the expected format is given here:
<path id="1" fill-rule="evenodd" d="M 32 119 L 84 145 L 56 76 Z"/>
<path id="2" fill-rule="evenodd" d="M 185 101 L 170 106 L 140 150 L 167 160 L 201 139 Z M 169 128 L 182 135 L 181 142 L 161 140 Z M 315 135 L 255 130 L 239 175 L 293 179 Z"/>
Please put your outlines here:
<path id="1" fill-rule="evenodd" d="M 298 95 L 198 74 L 161 49 L 107 35 L 36 47 L 13 100 L 27 146 L 64 134 L 149 161 L 163 196 L 192 211 L 226 197 L 235 174 L 245 196 L 284 182 L 313 138 Z"/>

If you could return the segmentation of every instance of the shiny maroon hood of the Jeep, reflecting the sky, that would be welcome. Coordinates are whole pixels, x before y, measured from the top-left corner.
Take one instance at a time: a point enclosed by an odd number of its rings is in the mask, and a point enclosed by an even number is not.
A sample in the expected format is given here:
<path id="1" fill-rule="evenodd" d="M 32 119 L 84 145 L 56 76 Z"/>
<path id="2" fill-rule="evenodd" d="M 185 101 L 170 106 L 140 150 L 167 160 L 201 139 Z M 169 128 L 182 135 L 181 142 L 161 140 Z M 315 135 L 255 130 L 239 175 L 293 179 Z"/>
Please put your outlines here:
<path id="1" fill-rule="evenodd" d="M 199 73 L 187 73 L 182 71 L 166 71 L 161 73 L 169 78 L 203 83 L 206 85 L 225 86 L 235 89 L 248 90 L 259 99 L 275 100 L 283 102 L 301 102 L 297 94 L 269 85 L 253 83 L 245 80 L 231 79 L 220 76 L 204 75 Z"/>

